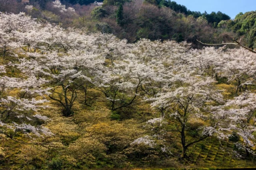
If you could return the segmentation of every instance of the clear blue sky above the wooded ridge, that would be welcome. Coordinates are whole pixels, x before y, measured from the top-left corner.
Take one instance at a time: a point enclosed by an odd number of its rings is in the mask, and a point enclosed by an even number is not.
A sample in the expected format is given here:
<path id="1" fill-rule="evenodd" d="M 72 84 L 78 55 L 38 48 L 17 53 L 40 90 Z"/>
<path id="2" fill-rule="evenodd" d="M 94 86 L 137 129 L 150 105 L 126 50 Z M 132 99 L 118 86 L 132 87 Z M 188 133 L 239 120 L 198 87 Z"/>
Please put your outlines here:
<path id="1" fill-rule="evenodd" d="M 234 19 L 240 12 L 256 11 L 256 0 L 174 0 L 191 11 L 223 12 Z"/>

